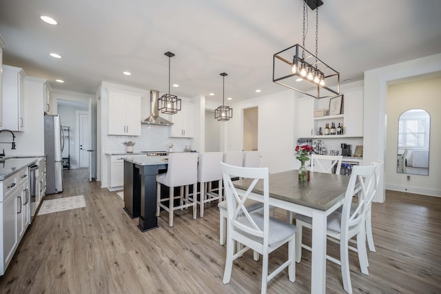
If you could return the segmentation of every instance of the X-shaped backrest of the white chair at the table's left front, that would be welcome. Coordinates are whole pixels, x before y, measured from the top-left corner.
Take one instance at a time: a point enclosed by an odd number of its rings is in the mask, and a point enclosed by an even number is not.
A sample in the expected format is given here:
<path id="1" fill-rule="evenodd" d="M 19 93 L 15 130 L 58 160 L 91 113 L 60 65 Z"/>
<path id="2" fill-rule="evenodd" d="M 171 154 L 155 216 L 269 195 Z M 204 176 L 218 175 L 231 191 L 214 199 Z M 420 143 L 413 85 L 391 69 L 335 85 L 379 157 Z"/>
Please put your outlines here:
<path id="1" fill-rule="evenodd" d="M 257 238 L 263 238 L 263 246 L 268 246 L 269 234 L 269 181 L 268 168 L 243 168 L 238 166 L 230 166 L 221 164 L 223 183 L 225 186 L 225 199 L 227 201 L 227 215 L 229 219 L 229 232 L 240 231 L 245 235 Z M 232 178 L 244 177 L 249 179 L 249 186 L 245 193 L 238 194 L 233 185 Z M 263 181 L 263 230 L 254 222 L 245 206 L 250 193 L 259 180 Z M 243 218 L 246 218 L 246 222 Z"/>

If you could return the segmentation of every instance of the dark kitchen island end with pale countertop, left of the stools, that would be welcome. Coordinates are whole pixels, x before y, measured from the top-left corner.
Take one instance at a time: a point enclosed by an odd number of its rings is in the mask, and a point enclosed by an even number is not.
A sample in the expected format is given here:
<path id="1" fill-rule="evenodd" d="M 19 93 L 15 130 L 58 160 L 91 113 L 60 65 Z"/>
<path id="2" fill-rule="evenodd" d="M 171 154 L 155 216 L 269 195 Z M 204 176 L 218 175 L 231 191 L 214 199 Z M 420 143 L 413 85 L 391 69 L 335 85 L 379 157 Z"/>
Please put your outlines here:
<path id="1" fill-rule="evenodd" d="M 140 156 L 124 159 L 124 210 L 139 217 L 138 228 L 149 231 L 158 227 L 156 217 L 156 175 L 167 169 L 165 157 Z"/>

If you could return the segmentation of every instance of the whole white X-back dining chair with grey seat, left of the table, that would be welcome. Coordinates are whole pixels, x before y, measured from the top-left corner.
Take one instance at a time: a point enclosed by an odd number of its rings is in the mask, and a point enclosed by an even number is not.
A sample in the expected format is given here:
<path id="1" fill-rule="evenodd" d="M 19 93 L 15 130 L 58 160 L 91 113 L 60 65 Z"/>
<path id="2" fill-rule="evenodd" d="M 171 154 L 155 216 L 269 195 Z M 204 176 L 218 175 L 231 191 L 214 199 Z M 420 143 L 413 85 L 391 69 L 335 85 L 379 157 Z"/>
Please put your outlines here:
<path id="1" fill-rule="evenodd" d="M 296 226 L 269 217 L 268 168 L 244 168 L 222 163 L 221 169 L 228 214 L 227 257 L 223 283 L 227 284 L 231 280 L 234 259 L 243 255 L 249 248 L 263 256 L 261 293 L 267 292 L 267 283 L 285 268 L 288 268 L 289 281 L 294 282 L 296 280 Z M 241 193 L 243 195 L 239 195 L 234 187 L 232 182 L 234 177 L 250 179 L 247 190 Z M 259 180 L 263 182 L 263 215 L 249 213 L 244 205 Z M 235 242 L 245 247 L 234 253 Z M 285 243 L 288 243 L 287 261 L 268 275 L 269 253 Z"/>

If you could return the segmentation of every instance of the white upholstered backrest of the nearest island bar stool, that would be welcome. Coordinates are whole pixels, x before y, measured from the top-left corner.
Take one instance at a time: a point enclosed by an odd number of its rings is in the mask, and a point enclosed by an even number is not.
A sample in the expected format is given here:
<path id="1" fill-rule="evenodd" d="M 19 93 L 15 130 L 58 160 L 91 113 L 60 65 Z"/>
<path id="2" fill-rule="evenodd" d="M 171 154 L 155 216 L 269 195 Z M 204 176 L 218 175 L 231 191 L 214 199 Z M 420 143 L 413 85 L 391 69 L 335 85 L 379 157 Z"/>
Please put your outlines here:
<path id="1" fill-rule="evenodd" d="M 165 184 L 178 187 L 196 182 L 198 182 L 198 154 L 170 153 Z"/>

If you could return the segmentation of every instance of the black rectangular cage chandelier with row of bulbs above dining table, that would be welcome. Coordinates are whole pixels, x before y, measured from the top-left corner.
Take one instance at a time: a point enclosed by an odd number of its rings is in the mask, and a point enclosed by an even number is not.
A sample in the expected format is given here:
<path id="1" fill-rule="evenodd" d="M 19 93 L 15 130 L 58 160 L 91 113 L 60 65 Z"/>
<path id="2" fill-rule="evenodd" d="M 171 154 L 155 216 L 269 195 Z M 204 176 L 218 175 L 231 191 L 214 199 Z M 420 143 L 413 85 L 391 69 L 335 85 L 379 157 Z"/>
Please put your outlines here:
<path id="1" fill-rule="evenodd" d="M 318 6 L 321 0 L 303 1 L 302 46 L 296 44 L 277 52 L 273 57 L 274 83 L 316 99 L 340 95 L 340 73 L 318 59 Z M 305 49 L 307 8 L 316 10 L 316 54 Z M 311 91 L 312 88 L 316 91 Z M 314 93 L 315 92 L 315 93 Z"/>

